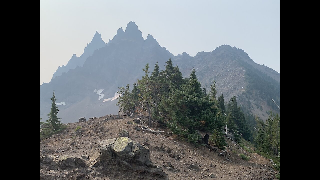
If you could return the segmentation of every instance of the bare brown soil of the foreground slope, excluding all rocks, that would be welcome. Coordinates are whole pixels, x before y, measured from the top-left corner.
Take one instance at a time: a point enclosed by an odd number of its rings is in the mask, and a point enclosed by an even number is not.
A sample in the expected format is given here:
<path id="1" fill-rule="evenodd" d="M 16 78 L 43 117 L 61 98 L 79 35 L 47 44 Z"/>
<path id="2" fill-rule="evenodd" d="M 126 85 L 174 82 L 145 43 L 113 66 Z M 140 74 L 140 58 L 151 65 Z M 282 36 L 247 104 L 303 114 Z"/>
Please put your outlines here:
<path id="1" fill-rule="evenodd" d="M 123 118 L 123 119 L 122 119 Z M 141 117 L 144 119 L 143 117 Z M 234 143 L 228 142 L 229 157 L 232 162 L 226 161 L 223 156 L 218 156 L 219 152 L 210 151 L 205 146 L 198 148 L 191 143 L 180 140 L 176 135 L 153 134 L 151 132 L 136 131 L 135 124 L 127 124 L 128 121 L 134 122 L 134 117 L 121 116 L 120 119 L 115 115 L 107 115 L 96 118 L 87 122 L 69 123 L 68 128 L 59 135 L 54 135 L 49 139 L 45 139 L 40 143 L 40 157 L 47 155 L 67 155 L 80 157 L 82 155 L 91 156 L 92 148 L 98 141 L 117 138 L 118 133 L 125 129 L 129 131 L 129 138 L 146 145 L 150 148 L 150 159 L 152 163 L 161 168 L 167 178 L 163 179 L 223 179 L 223 180 L 266 180 L 276 179 L 275 173 L 270 168 L 269 160 L 256 154 L 249 153 L 240 147 L 236 147 Z M 146 121 L 146 120 L 145 120 Z M 147 123 L 142 120 L 143 124 Z M 83 127 L 82 133 L 75 138 L 72 133 L 75 129 Z M 152 129 L 158 130 L 159 127 L 153 125 Z M 166 128 L 161 128 L 161 131 L 168 131 Z M 204 136 L 205 133 L 202 133 Z M 176 142 L 174 142 L 176 141 Z M 165 149 L 170 148 L 174 154 L 181 156 L 177 160 L 172 158 L 166 151 L 161 150 L 161 146 Z M 160 150 L 159 150 L 160 149 Z M 232 151 L 231 151 L 231 150 Z M 158 151 L 156 151 L 158 150 Z M 239 154 L 247 154 L 250 157 L 249 161 L 242 160 Z M 169 169 L 167 163 L 170 162 L 173 168 Z M 88 173 L 83 179 L 98 179 L 98 180 L 113 180 L 113 179 L 158 179 L 158 177 L 137 177 L 131 176 L 130 173 L 114 172 L 114 174 L 104 175 L 97 172 L 97 168 L 90 168 L 92 162 L 86 160 Z M 199 170 L 190 170 L 188 167 L 197 164 Z M 51 169 L 43 164 L 40 164 L 40 173 L 48 174 Z M 73 169 L 61 170 L 53 169 L 56 174 L 67 174 Z M 216 178 L 208 177 L 214 174 Z"/>

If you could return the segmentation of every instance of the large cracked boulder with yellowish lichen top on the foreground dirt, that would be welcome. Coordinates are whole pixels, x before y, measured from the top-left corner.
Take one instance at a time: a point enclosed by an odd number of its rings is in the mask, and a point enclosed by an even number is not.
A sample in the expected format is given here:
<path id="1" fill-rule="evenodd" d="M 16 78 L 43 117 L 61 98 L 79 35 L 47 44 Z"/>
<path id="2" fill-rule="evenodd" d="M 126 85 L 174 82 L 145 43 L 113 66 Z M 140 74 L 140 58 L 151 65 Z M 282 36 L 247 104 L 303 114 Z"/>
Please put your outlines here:
<path id="1" fill-rule="evenodd" d="M 103 174 L 129 173 L 130 176 L 166 177 L 166 174 L 150 161 L 150 150 L 128 137 L 99 141 L 90 159 L 92 167 Z"/>

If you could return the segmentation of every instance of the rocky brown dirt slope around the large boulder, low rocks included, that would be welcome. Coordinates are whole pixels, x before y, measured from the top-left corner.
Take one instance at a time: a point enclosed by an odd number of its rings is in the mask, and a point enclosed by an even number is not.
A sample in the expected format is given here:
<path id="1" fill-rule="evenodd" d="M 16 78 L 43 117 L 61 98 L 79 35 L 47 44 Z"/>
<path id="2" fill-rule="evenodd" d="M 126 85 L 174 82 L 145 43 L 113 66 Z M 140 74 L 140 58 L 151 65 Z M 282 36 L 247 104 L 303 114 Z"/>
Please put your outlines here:
<path id="1" fill-rule="evenodd" d="M 146 124 L 144 117 L 136 118 Z M 218 156 L 220 151 L 210 151 L 205 146 L 196 148 L 176 135 L 137 131 L 136 118 L 107 115 L 66 124 L 68 128 L 63 133 L 40 142 L 40 179 L 276 179 L 268 159 L 248 153 L 231 142 L 228 142 L 229 159 L 232 160 L 229 162 Z M 82 128 L 75 133 L 79 126 Z M 152 129 L 168 131 L 156 125 Z M 166 176 L 137 173 L 125 167 L 101 173 L 98 164 L 94 165 L 90 159 L 93 150 L 97 142 L 117 138 L 121 130 L 127 130 L 131 140 L 150 149 L 153 168 L 163 171 Z M 250 160 L 242 160 L 238 154 L 247 154 Z M 59 160 L 65 164 L 60 162 L 58 166 Z"/>

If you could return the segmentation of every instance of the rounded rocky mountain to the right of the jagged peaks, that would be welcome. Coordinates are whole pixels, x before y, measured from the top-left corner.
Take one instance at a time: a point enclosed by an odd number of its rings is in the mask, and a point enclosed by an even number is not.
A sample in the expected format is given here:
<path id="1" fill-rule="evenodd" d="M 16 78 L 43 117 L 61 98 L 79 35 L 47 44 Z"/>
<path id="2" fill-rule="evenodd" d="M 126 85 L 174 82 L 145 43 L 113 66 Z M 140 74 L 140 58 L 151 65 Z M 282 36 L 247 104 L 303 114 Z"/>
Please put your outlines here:
<path id="1" fill-rule="evenodd" d="M 218 96 L 224 95 L 227 103 L 236 95 L 243 110 L 267 119 L 267 111 L 280 113 L 280 74 L 271 68 L 255 63 L 242 49 L 222 45 L 213 52 L 200 52 L 195 57 L 187 53 L 178 55 L 176 63 L 183 75 L 192 68 L 203 88 L 209 89 L 216 81 Z"/>

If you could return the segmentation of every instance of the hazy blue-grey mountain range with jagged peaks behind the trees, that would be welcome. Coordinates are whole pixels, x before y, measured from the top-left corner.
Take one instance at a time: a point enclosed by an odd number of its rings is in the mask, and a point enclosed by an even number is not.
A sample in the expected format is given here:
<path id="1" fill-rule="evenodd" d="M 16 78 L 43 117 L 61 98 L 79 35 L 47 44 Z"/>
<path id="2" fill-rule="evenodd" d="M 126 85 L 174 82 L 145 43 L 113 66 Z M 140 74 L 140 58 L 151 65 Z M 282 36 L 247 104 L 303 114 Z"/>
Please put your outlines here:
<path id="1" fill-rule="evenodd" d="M 117 114 L 116 100 L 103 101 L 114 99 L 118 87 L 132 85 L 141 78 L 147 63 L 151 71 L 157 61 L 164 69 L 169 58 L 184 77 L 195 68 L 202 88 L 209 89 L 216 80 L 218 96 L 223 94 L 226 103 L 236 95 L 238 103 L 252 114 L 266 118 L 266 111 L 278 112 L 271 98 L 280 105 L 280 74 L 255 63 L 242 49 L 222 45 L 194 57 L 187 53 L 173 56 L 151 35 L 144 39 L 131 21 L 108 44 L 97 32 L 80 57 L 74 54 L 66 66 L 58 68 L 50 83 L 40 86 L 40 118 L 48 118 L 53 91 L 61 104 L 59 118 L 63 123 Z"/>

